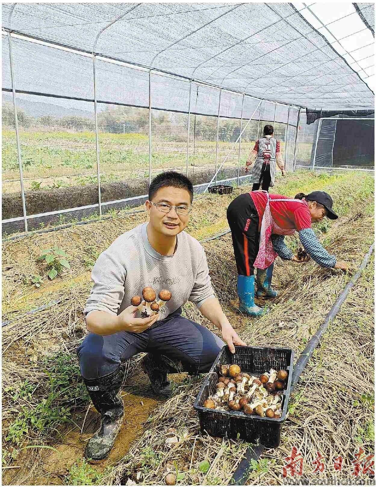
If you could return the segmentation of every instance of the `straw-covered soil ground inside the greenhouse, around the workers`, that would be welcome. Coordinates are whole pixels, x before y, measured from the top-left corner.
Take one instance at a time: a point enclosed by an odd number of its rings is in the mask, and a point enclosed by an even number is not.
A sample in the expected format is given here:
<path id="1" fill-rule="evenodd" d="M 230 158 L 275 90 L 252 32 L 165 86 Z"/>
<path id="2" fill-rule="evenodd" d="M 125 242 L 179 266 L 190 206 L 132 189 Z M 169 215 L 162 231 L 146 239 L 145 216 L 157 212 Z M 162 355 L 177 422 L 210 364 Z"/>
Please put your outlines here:
<path id="1" fill-rule="evenodd" d="M 328 191 L 340 218 L 314 225 L 320 240 L 339 259 L 356 268 L 374 239 L 374 180 L 362 173 L 289 174 L 273 188 L 288 196 Z M 188 231 L 204 240 L 226 229 L 226 208 L 249 187 L 232 195 L 205 195 L 194 203 Z M 3 243 L 3 484 L 6 485 L 161 485 L 170 469 L 181 485 L 227 485 L 248 444 L 202 435 L 192 404 L 202 377 L 174 376 L 173 397 L 153 397 L 140 372 L 141 356 L 124 366 L 125 425 L 108 460 L 82 462 L 86 441 L 98 425 L 80 380 L 75 348 L 86 334 L 82 309 L 90 292 L 90 270 L 98 255 L 120 234 L 145 221 L 145 213 L 112 218 L 26 236 Z M 70 263 L 50 281 L 36 259 L 56 245 Z M 292 237 L 289 245 L 296 248 Z M 350 275 L 314 262 L 294 265 L 277 260 L 274 284 L 281 290 L 269 315 L 239 314 L 231 236 L 203 244 L 212 280 L 226 315 L 249 345 L 285 346 L 296 359 L 322 323 Z M 249 485 L 281 485 L 285 458 L 296 446 L 304 457 L 304 476 L 351 478 L 359 447 L 374 452 L 374 261 L 367 265 L 321 347 L 312 356 L 290 398 L 279 448 L 266 450 L 254 465 Z M 43 308 L 51 301 L 54 304 Z M 41 307 L 30 315 L 24 313 Z M 208 323 L 189 303 L 186 316 Z M 208 325 L 212 329 L 212 325 Z M 179 438 L 165 445 L 170 428 Z M 317 452 L 326 465 L 313 473 Z M 333 461 L 343 457 L 342 471 Z M 203 472 L 200 463 L 210 468 Z M 369 474 L 361 473 L 363 479 Z"/>

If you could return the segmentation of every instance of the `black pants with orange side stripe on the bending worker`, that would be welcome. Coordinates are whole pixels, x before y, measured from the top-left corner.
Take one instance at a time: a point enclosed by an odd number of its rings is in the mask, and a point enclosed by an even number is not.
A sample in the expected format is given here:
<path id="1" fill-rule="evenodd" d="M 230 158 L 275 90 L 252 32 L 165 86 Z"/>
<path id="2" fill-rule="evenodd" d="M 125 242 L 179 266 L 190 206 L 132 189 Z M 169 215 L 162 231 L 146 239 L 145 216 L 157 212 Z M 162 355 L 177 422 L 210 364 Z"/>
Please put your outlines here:
<path id="1" fill-rule="evenodd" d="M 235 198 L 227 208 L 233 253 L 239 276 L 252 276 L 259 248 L 259 218 L 249 193 Z"/>

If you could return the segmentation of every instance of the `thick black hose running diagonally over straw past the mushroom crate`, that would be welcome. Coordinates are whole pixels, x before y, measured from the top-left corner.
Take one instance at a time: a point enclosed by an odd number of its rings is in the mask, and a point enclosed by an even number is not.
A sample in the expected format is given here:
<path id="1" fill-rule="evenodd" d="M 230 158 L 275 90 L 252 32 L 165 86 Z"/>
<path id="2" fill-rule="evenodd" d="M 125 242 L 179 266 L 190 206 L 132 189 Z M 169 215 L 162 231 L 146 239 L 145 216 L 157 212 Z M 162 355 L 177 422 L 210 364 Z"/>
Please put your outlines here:
<path id="1" fill-rule="evenodd" d="M 336 302 L 331 307 L 329 313 L 326 315 L 326 318 L 317 332 L 313 335 L 313 337 L 309 340 L 307 346 L 304 348 L 301 356 L 299 357 L 296 365 L 294 366 L 294 370 L 292 373 L 291 379 L 291 391 L 296 386 L 304 368 L 313 354 L 315 348 L 320 344 L 320 340 L 322 335 L 325 333 L 329 323 L 333 321 L 336 317 L 337 313 L 340 311 L 341 304 L 346 299 L 350 289 L 353 285 L 358 281 L 363 269 L 367 265 L 369 258 L 371 257 L 375 248 L 375 244 L 372 244 L 364 256 L 363 262 L 360 264 L 358 272 L 355 276 L 352 277 L 351 281 L 347 283 L 346 287 L 340 293 L 340 296 L 337 298 Z M 240 462 L 238 468 L 233 473 L 233 477 L 231 478 L 229 485 L 236 485 L 236 486 L 243 486 L 247 482 L 249 476 L 252 473 L 253 468 L 251 467 L 251 460 L 258 461 L 263 454 L 264 450 L 267 450 L 267 447 L 263 445 L 258 445 L 253 448 L 248 448 L 244 454 L 242 461 Z"/>

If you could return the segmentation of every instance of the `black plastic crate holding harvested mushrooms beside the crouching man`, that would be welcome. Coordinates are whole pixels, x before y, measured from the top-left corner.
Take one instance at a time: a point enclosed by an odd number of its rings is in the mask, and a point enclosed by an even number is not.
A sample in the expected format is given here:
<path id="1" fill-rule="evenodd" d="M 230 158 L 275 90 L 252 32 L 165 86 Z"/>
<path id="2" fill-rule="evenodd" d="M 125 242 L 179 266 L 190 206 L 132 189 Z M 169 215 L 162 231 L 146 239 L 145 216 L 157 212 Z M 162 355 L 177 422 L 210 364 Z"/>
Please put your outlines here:
<path id="1" fill-rule="evenodd" d="M 294 351 L 289 348 L 240 347 L 235 346 L 232 354 L 224 346 L 210 369 L 209 374 L 197 394 L 194 408 L 198 412 L 201 432 L 211 436 L 241 438 L 255 443 L 259 441 L 268 448 L 278 447 L 281 441 L 281 428 L 286 419 L 288 398 L 291 389 L 291 377 L 294 362 Z M 282 395 L 281 418 L 268 418 L 245 414 L 241 411 L 217 411 L 204 408 L 205 400 L 215 394 L 220 365 L 237 364 L 242 372 L 258 375 L 270 369 L 288 372 L 286 389 Z"/>

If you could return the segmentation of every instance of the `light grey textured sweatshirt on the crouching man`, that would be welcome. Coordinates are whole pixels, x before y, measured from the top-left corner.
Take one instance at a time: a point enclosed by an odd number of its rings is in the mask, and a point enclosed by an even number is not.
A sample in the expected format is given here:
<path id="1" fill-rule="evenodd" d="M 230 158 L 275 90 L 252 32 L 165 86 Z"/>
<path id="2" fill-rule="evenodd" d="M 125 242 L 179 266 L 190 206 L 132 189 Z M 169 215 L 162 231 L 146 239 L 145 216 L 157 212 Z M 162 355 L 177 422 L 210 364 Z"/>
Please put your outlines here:
<path id="1" fill-rule="evenodd" d="M 166 318 L 187 301 L 199 308 L 214 295 L 205 252 L 197 240 L 181 232 L 174 255 L 161 255 L 149 244 L 146 226 L 144 223 L 124 233 L 98 257 L 91 273 L 94 285 L 85 315 L 94 310 L 118 315 L 133 296 L 141 296 L 146 286 L 155 290 L 157 300 L 161 289 L 171 291 L 172 298 L 158 319 Z"/>

